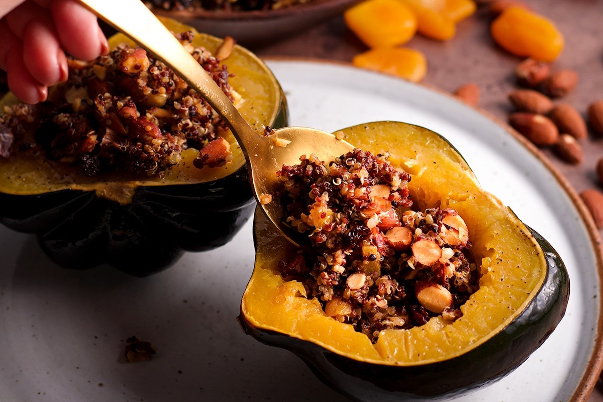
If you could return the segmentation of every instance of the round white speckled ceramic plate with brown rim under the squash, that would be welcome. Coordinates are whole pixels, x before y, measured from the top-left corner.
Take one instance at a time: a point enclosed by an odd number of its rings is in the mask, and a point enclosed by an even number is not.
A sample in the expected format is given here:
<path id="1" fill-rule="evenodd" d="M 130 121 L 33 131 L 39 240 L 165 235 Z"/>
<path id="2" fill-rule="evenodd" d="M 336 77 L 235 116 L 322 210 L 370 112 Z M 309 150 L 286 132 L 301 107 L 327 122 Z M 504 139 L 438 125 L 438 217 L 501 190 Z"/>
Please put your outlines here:
<path id="1" fill-rule="evenodd" d="M 459 401 L 586 400 L 601 327 L 598 232 L 575 193 L 529 145 L 449 96 L 350 66 L 270 60 L 292 125 L 335 131 L 397 120 L 443 134 L 482 186 L 557 249 L 571 278 L 557 330 L 516 371 Z M 346 399 L 292 353 L 245 336 L 236 322 L 253 267 L 251 224 L 228 245 L 186 254 L 148 278 L 53 265 L 32 236 L 0 228 L 0 400 L 317 401 Z M 157 353 L 126 363 L 136 335 Z"/>

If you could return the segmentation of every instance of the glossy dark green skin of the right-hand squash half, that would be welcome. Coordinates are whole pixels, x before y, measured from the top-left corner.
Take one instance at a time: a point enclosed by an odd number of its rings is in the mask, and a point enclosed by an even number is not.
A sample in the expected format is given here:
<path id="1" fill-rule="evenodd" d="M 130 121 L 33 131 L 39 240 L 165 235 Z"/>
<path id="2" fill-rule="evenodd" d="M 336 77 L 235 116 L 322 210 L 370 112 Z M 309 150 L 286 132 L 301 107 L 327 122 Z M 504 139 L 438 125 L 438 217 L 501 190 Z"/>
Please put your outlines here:
<path id="1" fill-rule="evenodd" d="M 545 253 L 546 278 L 525 310 L 500 333 L 452 359 L 416 366 L 388 366 L 340 356 L 317 344 L 239 322 L 258 341 L 295 353 L 326 385 L 362 402 L 442 401 L 496 382 L 523 363 L 561 321 L 569 299 L 569 277 L 557 252 L 532 230 Z"/>

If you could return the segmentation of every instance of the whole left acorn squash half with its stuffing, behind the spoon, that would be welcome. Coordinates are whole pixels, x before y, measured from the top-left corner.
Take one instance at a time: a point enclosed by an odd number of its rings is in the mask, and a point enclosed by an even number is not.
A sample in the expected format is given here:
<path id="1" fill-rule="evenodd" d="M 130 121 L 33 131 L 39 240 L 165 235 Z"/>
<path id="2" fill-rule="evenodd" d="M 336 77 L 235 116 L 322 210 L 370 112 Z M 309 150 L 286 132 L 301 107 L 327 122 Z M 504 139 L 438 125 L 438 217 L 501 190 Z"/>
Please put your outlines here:
<path id="1" fill-rule="evenodd" d="M 261 133 L 265 126 L 287 124 L 285 96 L 259 58 L 238 45 L 228 49 L 226 58 L 212 58 L 223 40 L 197 33 L 172 20 L 164 19 L 163 22 L 180 35 L 183 45 L 191 49 L 200 63 L 201 59 L 213 63 L 209 67 L 203 65 L 208 70 L 213 69 L 210 73 L 216 82 L 229 88 L 229 95 L 252 127 Z M 139 60 L 143 61 L 138 62 L 136 57 L 125 58 L 119 64 L 119 69 L 124 71 L 123 77 L 115 75 L 111 79 L 107 75 L 111 62 L 80 64 L 71 61 L 70 75 L 81 75 L 87 68 L 92 71 L 92 79 L 82 81 L 87 86 L 78 84 L 66 92 L 51 90 L 49 101 L 64 102 L 65 105 L 51 123 L 40 124 L 35 132 L 28 134 L 37 142 L 21 140 L 17 143 L 15 140 L 13 148 L 16 149 L 8 155 L 5 140 L 12 134 L 5 134 L 7 127 L 2 127 L 0 221 L 14 230 L 36 233 L 45 253 L 66 268 L 84 269 L 108 263 L 130 274 L 148 275 L 169 266 L 185 250 L 209 250 L 228 242 L 253 211 L 253 193 L 244 155 L 226 126 L 219 127 L 217 115 L 207 110 L 209 105 L 204 109 L 201 99 L 191 101 L 197 94 L 186 92 L 188 86 L 182 80 L 171 77 L 152 55 L 147 57 L 142 49 L 135 50 L 136 45 L 127 37 L 118 34 L 109 43 L 112 49 L 125 48 L 126 57 L 141 55 Z M 119 55 L 119 52 L 115 54 Z M 223 65 L 227 69 L 223 69 Z M 139 75 L 128 76 L 128 68 Z M 145 85 L 154 79 L 157 89 L 145 87 L 137 95 L 123 95 L 110 104 L 118 96 L 118 87 L 128 89 L 140 83 L 140 78 L 144 78 Z M 165 88 L 168 88 L 168 98 L 173 96 L 171 90 L 181 92 L 169 105 L 165 103 Z M 131 104 L 132 100 L 135 105 Z M 10 94 L 3 100 L 5 110 L 14 107 L 15 103 Z M 140 104 L 144 104 L 144 108 Z M 36 107 L 43 109 L 46 106 Z M 69 116 L 84 107 L 92 108 L 93 116 L 101 116 L 87 131 L 86 141 L 92 144 L 89 148 L 98 149 L 108 143 L 106 148 L 117 149 L 117 153 L 107 156 L 101 149 L 101 162 L 121 158 L 127 161 L 122 163 L 125 168 L 97 174 L 98 157 L 78 157 L 77 163 L 69 163 L 74 158 L 68 152 L 72 152 L 74 146 L 65 139 L 79 130 L 78 127 L 89 128 L 91 124 Z M 118 107 L 119 111 L 116 110 Z M 19 113 L 18 107 L 12 110 L 13 115 Z M 163 116 L 182 118 L 169 122 L 171 126 L 163 125 L 161 131 L 157 129 L 159 124 L 147 124 Z M 25 122 L 27 119 L 28 116 L 24 116 Z M 128 121 L 130 123 L 126 123 Z M 191 121 L 205 126 L 199 129 L 199 124 L 191 124 Z M 177 139 L 170 128 L 184 132 L 184 139 Z M 135 130 L 137 132 L 133 134 Z M 226 139 L 219 143 L 219 151 L 230 148 L 230 155 L 221 155 L 218 162 L 228 163 L 207 163 L 200 149 L 206 149 L 204 147 L 211 141 L 199 137 L 195 138 L 196 142 L 190 140 L 198 132 L 210 130 L 216 132 L 216 139 Z M 62 137 L 57 131 L 61 131 Z M 147 136 L 149 132 L 154 136 Z M 124 143 L 113 141 L 113 137 L 120 135 L 133 146 L 127 148 Z M 147 136 L 150 142 L 141 145 L 141 136 Z M 86 141 L 78 143 L 76 153 L 86 148 Z M 186 141 L 188 146 L 183 146 Z M 34 143 L 36 145 L 32 145 Z M 32 146 L 46 146 L 49 150 L 35 152 L 34 149 L 31 152 Z M 177 157 L 169 154 L 175 148 L 182 151 Z M 142 162 L 127 159 L 135 152 L 146 159 L 140 159 Z M 160 157 L 163 157 L 160 162 L 165 162 L 165 169 L 157 174 Z"/>

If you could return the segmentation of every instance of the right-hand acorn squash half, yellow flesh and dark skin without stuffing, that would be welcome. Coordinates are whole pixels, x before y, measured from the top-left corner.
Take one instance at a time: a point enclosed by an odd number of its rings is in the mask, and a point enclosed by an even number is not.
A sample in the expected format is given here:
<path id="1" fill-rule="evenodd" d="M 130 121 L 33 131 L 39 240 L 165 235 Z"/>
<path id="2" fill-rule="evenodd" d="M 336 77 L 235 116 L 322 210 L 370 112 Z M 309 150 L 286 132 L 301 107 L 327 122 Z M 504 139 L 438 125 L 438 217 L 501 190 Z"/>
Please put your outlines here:
<path id="1" fill-rule="evenodd" d="M 494 382 L 520 365 L 564 315 L 569 278 L 557 253 L 499 199 L 479 187 L 461 155 L 422 127 L 376 122 L 345 139 L 411 174 L 418 209 L 451 207 L 469 227 L 479 290 L 446 324 L 441 316 L 410 330 L 383 330 L 375 344 L 326 316 L 303 285 L 277 269 L 294 247 L 256 211 L 256 261 L 239 321 L 260 342 L 292 351 L 327 385 L 359 401 L 443 400 Z"/>

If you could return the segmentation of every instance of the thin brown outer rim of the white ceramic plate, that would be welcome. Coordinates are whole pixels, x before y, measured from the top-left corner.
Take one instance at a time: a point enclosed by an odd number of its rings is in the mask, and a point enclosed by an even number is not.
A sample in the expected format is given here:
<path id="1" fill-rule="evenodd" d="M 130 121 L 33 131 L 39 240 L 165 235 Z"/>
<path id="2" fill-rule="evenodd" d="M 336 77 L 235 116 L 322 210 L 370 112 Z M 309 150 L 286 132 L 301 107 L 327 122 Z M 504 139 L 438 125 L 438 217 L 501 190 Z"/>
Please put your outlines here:
<path id="1" fill-rule="evenodd" d="M 352 63 L 342 60 L 332 60 L 328 58 L 317 58 L 317 57 L 296 57 L 296 56 L 280 56 L 280 55 L 267 55 L 260 56 L 264 61 L 270 63 L 271 61 L 279 63 L 279 62 L 293 62 L 293 63 L 309 63 L 309 64 L 324 64 L 330 66 L 338 66 L 341 68 L 352 69 L 355 71 L 365 72 L 367 74 L 376 75 L 379 77 L 387 77 L 394 80 L 402 80 L 408 84 L 422 87 L 423 89 L 429 90 L 431 92 L 435 92 L 438 95 L 443 95 L 446 98 L 452 99 L 459 104 L 464 105 L 465 107 L 469 107 L 487 118 L 494 124 L 503 128 L 511 137 L 513 137 L 523 148 L 526 148 L 534 157 L 538 160 L 538 162 L 542 163 L 545 168 L 551 172 L 557 184 L 561 187 L 561 189 L 569 196 L 570 201 L 573 206 L 576 208 L 579 217 L 581 218 L 582 224 L 584 224 L 584 229 L 587 231 L 587 234 L 590 239 L 591 248 L 593 250 L 593 254 L 596 260 L 596 273 L 599 279 L 599 316 L 596 325 L 596 336 L 595 336 L 595 344 L 593 345 L 592 354 L 590 356 L 589 362 L 584 368 L 584 375 L 580 382 L 577 384 L 575 392 L 572 395 L 572 398 L 568 402 L 587 402 L 590 394 L 592 394 L 593 389 L 599 379 L 599 375 L 603 369 L 603 241 L 601 237 L 601 233 L 599 229 L 596 227 L 595 220 L 592 217 L 589 209 L 587 208 L 582 198 L 579 196 L 579 193 L 576 189 L 573 188 L 572 184 L 569 180 L 564 177 L 561 173 L 560 169 L 558 169 L 551 160 L 546 157 L 546 155 L 540 151 L 533 143 L 529 142 L 526 137 L 522 136 L 518 131 L 516 131 L 513 127 L 499 119 L 497 116 L 494 116 L 487 110 L 480 108 L 478 106 L 467 104 L 466 102 L 461 101 L 459 98 L 454 96 L 452 93 L 447 92 L 435 85 L 429 83 L 414 83 L 405 78 L 397 77 L 394 74 L 388 74 L 379 71 L 373 71 L 370 69 L 359 68 L 354 66 Z M 270 65 L 268 66 L 270 68 Z M 278 77 L 277 77 L 278 79 Z"/>

